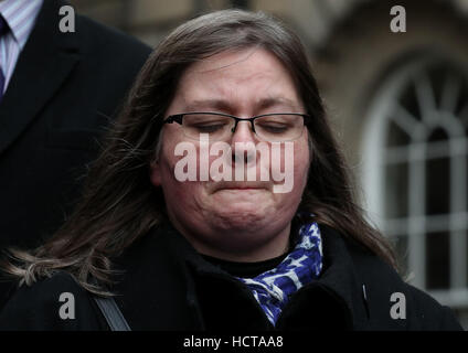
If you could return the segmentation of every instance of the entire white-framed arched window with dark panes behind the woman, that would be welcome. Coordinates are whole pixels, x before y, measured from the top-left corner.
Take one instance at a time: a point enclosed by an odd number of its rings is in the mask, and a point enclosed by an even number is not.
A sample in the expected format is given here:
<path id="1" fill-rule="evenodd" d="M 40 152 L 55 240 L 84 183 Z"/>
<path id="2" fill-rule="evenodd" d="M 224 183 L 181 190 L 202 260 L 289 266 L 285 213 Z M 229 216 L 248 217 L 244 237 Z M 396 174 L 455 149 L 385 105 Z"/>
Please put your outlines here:
<path id="1" fill-rule="evenodd" d="M 412 284 L 468 304 L 468 79 L 438 58 L 400 65 L 376 89 L 363 140 L 371 221 Z"/>

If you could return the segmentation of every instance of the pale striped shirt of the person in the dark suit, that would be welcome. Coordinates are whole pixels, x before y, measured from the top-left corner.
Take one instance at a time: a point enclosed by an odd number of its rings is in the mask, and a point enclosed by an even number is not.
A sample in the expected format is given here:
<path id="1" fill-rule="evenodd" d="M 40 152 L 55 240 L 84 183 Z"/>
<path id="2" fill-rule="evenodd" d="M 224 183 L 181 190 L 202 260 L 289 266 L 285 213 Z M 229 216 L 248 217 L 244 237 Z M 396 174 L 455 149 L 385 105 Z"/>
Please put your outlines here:
<path id="1" fill-rule="evenodd" d="M 0 13 L 7 21 L 18 45 L 23 49 L 34 26 L 43 0 L 3 0 Z"/>

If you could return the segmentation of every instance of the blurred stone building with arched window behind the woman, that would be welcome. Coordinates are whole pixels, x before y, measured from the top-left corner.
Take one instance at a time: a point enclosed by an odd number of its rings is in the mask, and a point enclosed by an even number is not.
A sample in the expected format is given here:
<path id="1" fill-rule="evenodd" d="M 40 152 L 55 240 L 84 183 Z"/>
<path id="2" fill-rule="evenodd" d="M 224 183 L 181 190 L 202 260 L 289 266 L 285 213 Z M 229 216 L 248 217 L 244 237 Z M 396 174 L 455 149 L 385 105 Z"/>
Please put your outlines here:
<path id="1" fill-rule="evenodd" d="M 307 46 L 369 218 L 394 242 L 407 280 L 450 306 L 468 328 L 468 0 L 72 3 L 151 46 L 216 9 L 263 10 L 291 25 Z M 391 30 L 394 6 L 405 10 L 405 32 Z"/>

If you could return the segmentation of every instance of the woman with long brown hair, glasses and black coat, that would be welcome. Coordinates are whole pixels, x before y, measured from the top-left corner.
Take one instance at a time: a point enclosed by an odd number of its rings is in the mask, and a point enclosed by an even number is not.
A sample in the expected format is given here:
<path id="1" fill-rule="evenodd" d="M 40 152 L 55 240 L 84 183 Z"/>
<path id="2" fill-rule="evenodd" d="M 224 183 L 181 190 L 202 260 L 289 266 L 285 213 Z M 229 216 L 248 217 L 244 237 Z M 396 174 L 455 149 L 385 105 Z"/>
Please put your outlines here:
<path id="1" fill-rule="evenodd" d="M 0 328 L 460 329 L 395 267 L 353 201 L 299 40 L 226 10 L 152 53 L 75 213 L 11 252 L 22 286 Z"/>

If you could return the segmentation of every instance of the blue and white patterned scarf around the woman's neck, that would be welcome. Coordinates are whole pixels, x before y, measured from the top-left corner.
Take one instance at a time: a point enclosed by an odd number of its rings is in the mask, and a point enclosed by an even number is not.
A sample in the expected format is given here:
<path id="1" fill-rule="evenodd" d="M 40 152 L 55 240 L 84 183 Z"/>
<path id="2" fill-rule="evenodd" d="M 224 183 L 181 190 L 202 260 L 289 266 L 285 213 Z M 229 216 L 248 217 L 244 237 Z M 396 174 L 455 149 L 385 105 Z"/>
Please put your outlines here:
<path id="1" fill-rule="evenodd" d="M 302 225 L 294 250 L 274 269 L 255 278 L 241 278 L 274 325 L 299 288 L 318 278 L 322 269 L 322 244 L 317 223 Z"/>

